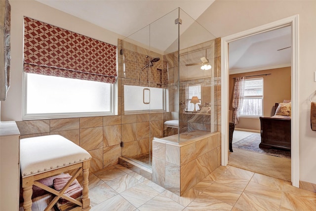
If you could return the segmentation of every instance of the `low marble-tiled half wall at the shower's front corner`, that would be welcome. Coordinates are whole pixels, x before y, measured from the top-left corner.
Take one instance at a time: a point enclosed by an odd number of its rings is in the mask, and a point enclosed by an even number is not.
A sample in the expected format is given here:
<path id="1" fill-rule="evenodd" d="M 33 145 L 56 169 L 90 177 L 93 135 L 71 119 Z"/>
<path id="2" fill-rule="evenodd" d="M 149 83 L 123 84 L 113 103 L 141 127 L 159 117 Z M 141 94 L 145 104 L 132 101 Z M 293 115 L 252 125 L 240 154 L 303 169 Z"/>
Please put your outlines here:
<path id="1" fill-rule="evenodd" d="M 152 181 L 179 196 L 220 165 L 220 132 L 179 144 L 153 140 Z"/>

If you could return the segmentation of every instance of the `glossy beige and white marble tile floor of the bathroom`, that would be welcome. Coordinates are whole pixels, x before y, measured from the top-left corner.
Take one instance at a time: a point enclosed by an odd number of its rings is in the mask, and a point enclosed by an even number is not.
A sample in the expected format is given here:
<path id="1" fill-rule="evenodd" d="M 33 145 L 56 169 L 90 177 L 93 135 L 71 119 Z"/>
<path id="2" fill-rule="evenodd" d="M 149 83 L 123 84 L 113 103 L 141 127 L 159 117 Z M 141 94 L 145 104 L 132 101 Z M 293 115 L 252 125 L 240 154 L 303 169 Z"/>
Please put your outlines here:
<path id="1" fill-rule="evenodd" d="M 89 197 L 91 211 L 313 211 L 316 208 L 316 193 L 233 166 L 217 168 L 179 197 L 116 165 L 89 174 Z"/>

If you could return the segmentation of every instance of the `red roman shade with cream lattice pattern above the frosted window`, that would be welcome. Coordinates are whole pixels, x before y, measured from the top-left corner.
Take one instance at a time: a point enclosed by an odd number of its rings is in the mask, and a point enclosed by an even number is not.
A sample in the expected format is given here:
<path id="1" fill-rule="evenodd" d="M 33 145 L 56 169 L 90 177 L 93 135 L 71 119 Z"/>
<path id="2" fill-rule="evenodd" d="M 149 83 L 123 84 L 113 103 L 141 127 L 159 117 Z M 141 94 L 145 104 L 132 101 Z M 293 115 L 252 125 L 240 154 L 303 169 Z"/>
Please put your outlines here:
<path id="1" fill-rule="evenodd" d="M 117 47 L 24 18 L 24 72 L 114 84 Z"/>

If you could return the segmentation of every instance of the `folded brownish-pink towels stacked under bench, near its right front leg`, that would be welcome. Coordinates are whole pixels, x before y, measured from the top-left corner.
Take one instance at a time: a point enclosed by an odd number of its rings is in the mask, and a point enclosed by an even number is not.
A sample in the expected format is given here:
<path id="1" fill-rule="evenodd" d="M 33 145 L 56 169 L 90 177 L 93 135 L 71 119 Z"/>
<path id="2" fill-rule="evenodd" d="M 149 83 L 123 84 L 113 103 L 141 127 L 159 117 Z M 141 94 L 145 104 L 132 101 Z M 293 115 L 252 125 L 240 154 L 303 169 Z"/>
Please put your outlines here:
<path id="1" fill-rule="evenodd" d="M 72 176 L 69 174 L 64 174 L 61 177 L 55 178 L 53 181 L 53 187 L 55 190 L 60 191 L 68 182 L 68 180 Z M 66 196 L 69 196 L 73 199 L 77 199 L 82 195 L 82 187 L 80 186 L 77 179 L 73 181 L 73 183 L 67 188 L 67 190 L 64 192 Z M 58 200 L 60 204 L 65 204 L 68 202 L 68 200 L 65 200 L 63 198 L 60 198 Z"/>

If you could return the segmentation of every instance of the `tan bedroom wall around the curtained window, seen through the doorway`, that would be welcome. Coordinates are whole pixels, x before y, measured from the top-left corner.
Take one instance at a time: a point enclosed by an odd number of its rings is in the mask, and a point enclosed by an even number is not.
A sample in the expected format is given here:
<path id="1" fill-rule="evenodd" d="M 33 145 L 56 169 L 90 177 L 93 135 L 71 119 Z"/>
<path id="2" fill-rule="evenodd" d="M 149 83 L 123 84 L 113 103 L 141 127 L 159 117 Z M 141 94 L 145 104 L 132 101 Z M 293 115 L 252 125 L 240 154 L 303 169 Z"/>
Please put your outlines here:
<path id="1" fill-rule="evenodd" d="M 261 74 L 269 74 L 269 76 L 256 76 L 247 77 L 251 78 L 263 78 L 263 116 L 271 117 L 274 115 L 275 103 L 283 102 L 284 99 L 291 99 L 291 68 L 277 68 L 271 70 L 262 70 L 249 73 L 232 74 L 229 76 L 229 118 L 230 122 L 233 122 L 233 93 L 235 77 L 253 76 Z M 235 128 L 260 130 L 259 118 L 239 118 L 239 123 Z"/>

